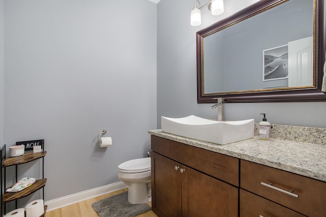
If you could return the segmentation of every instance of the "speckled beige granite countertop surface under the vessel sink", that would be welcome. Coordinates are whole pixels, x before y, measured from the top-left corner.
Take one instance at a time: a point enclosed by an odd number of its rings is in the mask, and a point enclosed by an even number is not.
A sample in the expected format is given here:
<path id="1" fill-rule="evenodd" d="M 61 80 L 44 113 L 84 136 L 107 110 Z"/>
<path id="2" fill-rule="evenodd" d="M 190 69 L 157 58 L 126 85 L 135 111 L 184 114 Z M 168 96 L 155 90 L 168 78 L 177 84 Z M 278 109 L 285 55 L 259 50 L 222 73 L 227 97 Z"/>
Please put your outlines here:
<path id="1" fill-rule="evenodd" d="M 165 133 L 162 130 L 150 130 L 149 134 L 326 181 L 326 145 L 274 138 L 264 141 L 258 137 L 218 145 Z"/>

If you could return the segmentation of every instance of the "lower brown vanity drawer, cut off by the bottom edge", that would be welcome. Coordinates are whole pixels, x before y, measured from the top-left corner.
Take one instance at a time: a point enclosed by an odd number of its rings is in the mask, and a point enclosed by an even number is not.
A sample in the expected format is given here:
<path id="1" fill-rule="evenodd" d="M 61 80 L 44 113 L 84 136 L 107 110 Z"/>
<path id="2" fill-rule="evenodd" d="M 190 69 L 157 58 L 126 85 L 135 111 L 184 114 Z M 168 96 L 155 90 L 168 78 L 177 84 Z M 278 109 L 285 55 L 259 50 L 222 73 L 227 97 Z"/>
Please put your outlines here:
<path id="1" fill-rule="evenodd" d="M 240 217 L 252 216 L 303 217 L 305 215 L 240 189 Z"/>

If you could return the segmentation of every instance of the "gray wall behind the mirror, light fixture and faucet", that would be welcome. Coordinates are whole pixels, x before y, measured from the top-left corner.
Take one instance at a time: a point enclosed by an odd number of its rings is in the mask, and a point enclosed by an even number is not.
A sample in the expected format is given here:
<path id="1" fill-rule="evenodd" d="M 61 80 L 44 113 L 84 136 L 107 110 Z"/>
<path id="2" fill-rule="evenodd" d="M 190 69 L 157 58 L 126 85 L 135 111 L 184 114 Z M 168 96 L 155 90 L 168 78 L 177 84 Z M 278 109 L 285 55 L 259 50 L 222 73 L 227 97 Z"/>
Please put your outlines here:
<path id="1" fill-rule="evenodd" d="M 202 24 L 190 25 L 193 1 L 162 0 L 157 8 L 157 128 L 160 116 L 184 117 L 198 115 L 217 117 L 212 104 L 197 104 L 196 32 L 229 16 L 256 1 L 225 0 L 225 13 L 212 16 L 201 10 Z M 169 16 L 167 16 L 169 14 Z M 326 127 L 326 102 L 298 103 L 229 103 L 225 105 L 228 120 L 254 118 L 280 125 Z"/>

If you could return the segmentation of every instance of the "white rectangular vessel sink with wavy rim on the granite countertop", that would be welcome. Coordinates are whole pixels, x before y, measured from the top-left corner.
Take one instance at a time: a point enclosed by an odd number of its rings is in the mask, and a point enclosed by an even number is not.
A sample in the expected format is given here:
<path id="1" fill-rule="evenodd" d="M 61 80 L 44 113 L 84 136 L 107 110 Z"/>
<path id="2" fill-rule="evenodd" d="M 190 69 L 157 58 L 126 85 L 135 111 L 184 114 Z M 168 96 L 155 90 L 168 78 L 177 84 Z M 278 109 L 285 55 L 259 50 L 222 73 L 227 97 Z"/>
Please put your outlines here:
<path id="1" fill-rule="evenodd" d="M 161 128 L 163 132 L 220 145 L 254 137 L 254 119 L 216 121 L 195 115 L 182 118 L 161 116 Z"/>

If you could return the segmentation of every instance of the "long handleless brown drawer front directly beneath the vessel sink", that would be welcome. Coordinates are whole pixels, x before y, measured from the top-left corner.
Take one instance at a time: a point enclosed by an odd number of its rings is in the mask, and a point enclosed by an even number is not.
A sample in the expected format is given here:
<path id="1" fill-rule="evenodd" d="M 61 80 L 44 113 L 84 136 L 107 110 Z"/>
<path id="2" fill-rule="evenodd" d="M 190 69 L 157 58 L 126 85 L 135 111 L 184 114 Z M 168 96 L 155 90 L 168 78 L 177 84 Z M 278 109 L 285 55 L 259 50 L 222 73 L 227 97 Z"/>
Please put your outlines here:
<path id="1" fill-rule="evenodd" d="M 239 186 L 239 159 L 151 135 L 152 151 Z"/>

